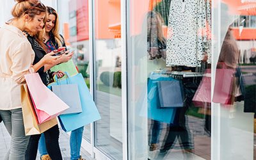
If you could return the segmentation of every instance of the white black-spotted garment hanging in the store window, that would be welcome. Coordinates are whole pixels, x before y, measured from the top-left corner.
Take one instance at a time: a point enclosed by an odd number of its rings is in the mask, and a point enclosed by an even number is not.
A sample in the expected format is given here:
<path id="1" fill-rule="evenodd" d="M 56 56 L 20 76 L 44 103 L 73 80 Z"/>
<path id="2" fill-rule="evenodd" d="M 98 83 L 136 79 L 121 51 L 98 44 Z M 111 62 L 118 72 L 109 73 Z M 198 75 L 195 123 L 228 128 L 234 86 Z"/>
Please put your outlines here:
<path id="1" fill-rule="evenodd" d="M 166 65 L 200 67 L 205 54 L 211 63 L 209 0 L 173 0 L 170 4 Z"/>

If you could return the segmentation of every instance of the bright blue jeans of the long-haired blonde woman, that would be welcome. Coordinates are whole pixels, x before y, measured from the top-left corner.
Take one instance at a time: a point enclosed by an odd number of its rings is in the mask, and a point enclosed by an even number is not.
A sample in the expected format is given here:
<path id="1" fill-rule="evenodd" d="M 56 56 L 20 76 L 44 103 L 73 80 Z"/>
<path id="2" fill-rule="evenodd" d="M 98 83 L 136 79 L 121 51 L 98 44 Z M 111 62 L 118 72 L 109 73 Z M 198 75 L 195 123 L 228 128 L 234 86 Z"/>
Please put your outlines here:
<path id="1" fill-rule="evenodd" d="M 83 138 L 84 127 L 76 129 L 71 132 L 70 135 L 70 159 L 77 160 L 80 157 L 81 143 Z M 45 137 L 44 134 L 41 135 L 38 150 L 40 152 L 40 156 L 43 156 L 47 153 L 47 149 L 45 146 Z"/>

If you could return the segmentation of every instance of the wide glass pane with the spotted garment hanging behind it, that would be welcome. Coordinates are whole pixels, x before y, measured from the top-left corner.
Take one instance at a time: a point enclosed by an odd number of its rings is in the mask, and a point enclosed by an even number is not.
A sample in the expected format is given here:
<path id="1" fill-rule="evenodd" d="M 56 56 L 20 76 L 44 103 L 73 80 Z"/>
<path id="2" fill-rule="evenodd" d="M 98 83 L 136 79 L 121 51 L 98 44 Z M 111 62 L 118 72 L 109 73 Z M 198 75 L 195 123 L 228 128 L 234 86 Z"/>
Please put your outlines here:
<path id="1" fill-rule="evenodd" d="M 130 159 L 211 159 L 211 3 L 131 0 Z"/>

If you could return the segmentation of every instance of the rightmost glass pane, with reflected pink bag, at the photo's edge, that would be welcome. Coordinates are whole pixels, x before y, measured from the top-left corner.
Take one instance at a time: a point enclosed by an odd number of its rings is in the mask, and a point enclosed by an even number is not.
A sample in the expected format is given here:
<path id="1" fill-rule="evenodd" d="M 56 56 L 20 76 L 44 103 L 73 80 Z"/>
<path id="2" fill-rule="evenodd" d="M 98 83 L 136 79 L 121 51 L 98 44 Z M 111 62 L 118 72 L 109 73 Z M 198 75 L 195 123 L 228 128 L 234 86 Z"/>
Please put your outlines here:
<path id="1" fill-rule="evenodd" d="M 256 159 L 256 3 L 223 0 L 216 4 L 221 12 L 214 21 L 220 21 L 221 30 L 214 44 L 219 54 L 212 101 L 220 111 L 220 159 Z"/>

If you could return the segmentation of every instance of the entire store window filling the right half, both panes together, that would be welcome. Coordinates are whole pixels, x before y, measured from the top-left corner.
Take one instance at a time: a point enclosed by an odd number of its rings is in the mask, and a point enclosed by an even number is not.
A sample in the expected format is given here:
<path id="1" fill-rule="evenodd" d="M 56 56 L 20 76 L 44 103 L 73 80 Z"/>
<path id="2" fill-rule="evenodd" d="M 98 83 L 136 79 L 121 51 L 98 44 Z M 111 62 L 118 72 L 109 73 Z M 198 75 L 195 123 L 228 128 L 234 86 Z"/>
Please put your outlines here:
<path id="1" fill-rule="evenodd" d="M 254 5 L 127 2 L 129 159 L 253 159 Z"/>

